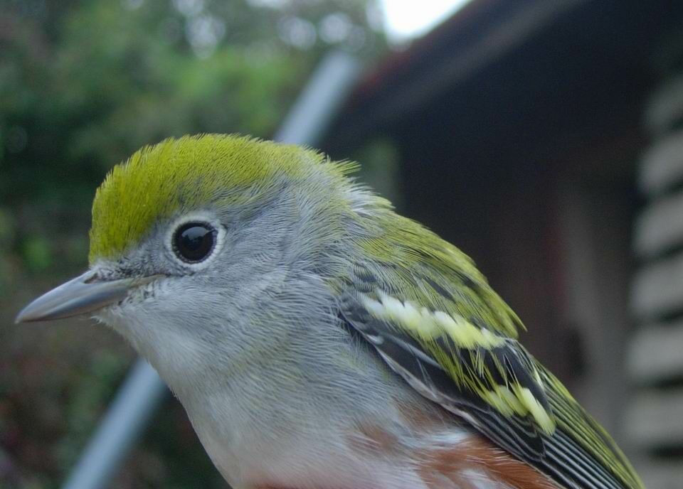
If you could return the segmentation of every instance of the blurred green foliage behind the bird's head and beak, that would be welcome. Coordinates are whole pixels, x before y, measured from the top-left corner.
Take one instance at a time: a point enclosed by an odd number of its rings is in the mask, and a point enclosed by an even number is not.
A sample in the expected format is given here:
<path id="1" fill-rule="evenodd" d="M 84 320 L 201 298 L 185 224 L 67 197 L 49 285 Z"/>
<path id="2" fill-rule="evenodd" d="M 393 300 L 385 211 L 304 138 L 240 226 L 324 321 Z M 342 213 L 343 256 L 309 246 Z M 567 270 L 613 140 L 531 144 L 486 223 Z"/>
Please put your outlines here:
<path id="1" fill-rule="evenodd" d="M 11 326 L 85 267 L 107 170 L 168 136 L 268 137 L 325 51 L 385 47 L 372 0 L 0 0 L 0 488 L 57 487 L 132 358 L 83 321 Z M 224 484 L 172 402 L 115 487 Z"/>

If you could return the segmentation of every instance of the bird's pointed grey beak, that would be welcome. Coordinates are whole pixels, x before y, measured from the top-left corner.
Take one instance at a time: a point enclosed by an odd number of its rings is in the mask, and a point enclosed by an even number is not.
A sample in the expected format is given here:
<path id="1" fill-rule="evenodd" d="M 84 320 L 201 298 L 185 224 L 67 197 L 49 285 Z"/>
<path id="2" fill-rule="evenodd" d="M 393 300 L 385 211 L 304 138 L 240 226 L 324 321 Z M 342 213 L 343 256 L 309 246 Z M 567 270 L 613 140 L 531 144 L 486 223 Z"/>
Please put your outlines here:
<path id="1" fill-rule="evenodd" d="M 157 278 L 159 275 L 105 281 L 90 270 L 38 297 L 18 313 L 15 322 L 50 321 L 97 311 L 122 301 L 130 289 Z"/>

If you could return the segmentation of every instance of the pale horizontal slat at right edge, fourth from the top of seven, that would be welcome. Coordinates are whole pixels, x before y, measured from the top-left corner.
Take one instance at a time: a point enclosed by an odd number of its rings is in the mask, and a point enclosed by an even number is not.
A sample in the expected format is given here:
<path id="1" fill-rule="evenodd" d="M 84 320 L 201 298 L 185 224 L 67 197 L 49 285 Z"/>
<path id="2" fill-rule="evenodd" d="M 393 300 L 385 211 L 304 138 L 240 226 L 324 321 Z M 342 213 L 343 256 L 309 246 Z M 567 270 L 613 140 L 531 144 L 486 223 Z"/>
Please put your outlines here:
<path id="1" fill-rule="evenodd" d="M 631 293 L 633 313 L 640 319 L 683 309 L 683 253 L 640 269 Z"/>

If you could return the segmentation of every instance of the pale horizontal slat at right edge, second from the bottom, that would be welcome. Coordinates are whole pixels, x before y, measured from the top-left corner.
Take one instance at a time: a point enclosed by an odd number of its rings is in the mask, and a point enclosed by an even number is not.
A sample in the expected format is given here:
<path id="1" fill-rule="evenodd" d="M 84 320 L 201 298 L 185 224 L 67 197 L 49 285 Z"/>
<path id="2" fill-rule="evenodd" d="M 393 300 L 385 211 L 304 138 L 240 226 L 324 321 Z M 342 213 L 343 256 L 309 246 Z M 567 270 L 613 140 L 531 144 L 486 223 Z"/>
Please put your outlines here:
<path id="1" fill-rule="evenodd" d="M 643 391 L 626 407 L 626 435 L 632 446 L 660 448 L 683 440 L 683 388 Z"/>

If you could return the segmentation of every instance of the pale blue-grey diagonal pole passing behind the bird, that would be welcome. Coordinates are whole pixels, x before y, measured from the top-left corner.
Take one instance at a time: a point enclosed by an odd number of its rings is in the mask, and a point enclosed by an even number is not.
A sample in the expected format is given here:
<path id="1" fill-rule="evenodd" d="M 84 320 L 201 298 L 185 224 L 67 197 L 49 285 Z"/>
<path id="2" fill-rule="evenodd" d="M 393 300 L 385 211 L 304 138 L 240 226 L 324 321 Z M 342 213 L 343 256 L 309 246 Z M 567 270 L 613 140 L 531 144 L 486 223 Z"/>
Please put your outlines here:
<path id="1" fill-rule="evenodd" d="M 277 141 L 317 144 L 360 72 L 353 56 L 333 51 L 317 70 L 275 134 Z M 161 404 L 166 385 L 144 360 L 131 368 L 63 489 L 104 489 Z"/>

